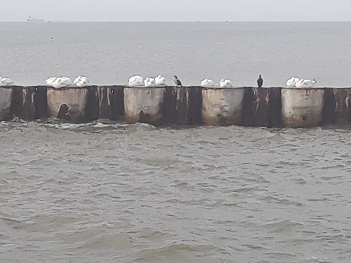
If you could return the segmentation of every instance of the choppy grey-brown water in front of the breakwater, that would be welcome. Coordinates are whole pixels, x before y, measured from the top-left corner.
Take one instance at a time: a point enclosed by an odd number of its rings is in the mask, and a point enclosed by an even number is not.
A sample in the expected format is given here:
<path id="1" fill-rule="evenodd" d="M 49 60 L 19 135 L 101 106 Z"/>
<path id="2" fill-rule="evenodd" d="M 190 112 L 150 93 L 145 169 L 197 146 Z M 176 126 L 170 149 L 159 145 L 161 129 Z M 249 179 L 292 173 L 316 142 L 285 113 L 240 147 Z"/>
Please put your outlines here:
<path id="1" fill-rule="evenodd" d="M 0 123 L 1 262 L 350 262 L 350 134 Z"/>

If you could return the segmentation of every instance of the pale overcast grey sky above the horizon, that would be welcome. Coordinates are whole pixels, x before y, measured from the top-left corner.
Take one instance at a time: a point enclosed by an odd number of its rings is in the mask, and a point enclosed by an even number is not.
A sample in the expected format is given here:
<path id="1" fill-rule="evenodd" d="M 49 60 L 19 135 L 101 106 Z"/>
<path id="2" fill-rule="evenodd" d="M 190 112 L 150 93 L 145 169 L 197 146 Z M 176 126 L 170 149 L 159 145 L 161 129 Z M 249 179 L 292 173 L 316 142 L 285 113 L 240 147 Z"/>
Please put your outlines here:
<path id="1" fill-rule="evenodd" d="M 0 21 L 351 21 L 351 0 L 0 0 Z"/>

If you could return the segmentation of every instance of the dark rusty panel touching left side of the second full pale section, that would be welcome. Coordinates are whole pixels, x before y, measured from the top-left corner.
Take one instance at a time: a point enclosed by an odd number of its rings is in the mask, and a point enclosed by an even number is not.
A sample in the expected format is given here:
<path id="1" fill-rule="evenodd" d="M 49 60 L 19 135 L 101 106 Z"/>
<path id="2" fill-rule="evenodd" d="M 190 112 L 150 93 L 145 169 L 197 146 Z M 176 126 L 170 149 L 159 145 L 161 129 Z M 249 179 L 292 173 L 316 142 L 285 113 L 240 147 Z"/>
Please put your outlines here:
<path id="1" fill-rule="evenodd" d="M 123 86 L 98 86 L 99 118 L 118 120 L 124 114 Z"/>

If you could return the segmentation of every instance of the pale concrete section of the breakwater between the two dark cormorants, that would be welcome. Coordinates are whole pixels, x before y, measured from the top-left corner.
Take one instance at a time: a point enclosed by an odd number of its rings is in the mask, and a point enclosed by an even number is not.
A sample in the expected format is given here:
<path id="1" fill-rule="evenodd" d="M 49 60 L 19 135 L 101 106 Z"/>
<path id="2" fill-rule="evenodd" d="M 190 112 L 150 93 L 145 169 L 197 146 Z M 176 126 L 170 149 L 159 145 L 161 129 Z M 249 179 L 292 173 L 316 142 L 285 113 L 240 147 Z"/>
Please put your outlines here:
<path id="1" fill-rule="evenodd" d="M 203 88 L 202 121 L 206 125 L 240 124 L 244 88 Z"/>

